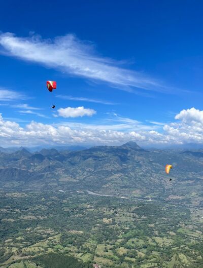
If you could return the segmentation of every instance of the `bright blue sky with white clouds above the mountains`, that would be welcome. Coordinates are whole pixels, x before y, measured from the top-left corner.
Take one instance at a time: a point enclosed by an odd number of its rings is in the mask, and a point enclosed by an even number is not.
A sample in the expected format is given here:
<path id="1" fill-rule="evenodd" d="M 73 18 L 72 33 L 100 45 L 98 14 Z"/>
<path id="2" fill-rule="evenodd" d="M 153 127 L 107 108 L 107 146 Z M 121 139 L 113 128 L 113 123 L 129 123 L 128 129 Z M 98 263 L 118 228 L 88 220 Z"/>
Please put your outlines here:
<path id="1" fill-rule="evenodd" d="M 203 143 L 202 8 L 1 3 L 0 145 Z"/>

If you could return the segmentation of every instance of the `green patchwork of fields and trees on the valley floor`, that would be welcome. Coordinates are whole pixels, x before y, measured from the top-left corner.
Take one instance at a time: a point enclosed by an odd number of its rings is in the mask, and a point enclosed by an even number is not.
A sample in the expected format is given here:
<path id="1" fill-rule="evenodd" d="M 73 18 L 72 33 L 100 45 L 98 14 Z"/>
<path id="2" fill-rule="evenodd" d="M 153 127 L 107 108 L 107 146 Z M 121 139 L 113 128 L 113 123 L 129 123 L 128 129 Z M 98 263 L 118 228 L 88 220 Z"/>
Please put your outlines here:
<path id="1" fill-rule="evenodd" d="M 1 192 L 0 217 L 2 268 L 203 267 L 201 209 L 76 191 Z"/>

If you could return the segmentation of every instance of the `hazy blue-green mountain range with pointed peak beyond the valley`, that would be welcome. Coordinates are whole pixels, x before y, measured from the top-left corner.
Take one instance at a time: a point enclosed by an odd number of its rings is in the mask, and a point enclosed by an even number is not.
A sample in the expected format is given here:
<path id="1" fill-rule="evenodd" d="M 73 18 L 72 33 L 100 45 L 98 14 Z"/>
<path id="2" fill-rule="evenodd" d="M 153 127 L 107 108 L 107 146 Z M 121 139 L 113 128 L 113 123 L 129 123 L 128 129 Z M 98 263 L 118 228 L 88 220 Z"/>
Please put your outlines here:
<path id="1" fill-rule="evenodd" d="M 170 174 L 166 164 L 173 165 Z M 203 150 L 147 150 L 136 142 L 77 151 L 0 148 L 2 190 L 90 190 L 201 206 L 202 182 Z"/>

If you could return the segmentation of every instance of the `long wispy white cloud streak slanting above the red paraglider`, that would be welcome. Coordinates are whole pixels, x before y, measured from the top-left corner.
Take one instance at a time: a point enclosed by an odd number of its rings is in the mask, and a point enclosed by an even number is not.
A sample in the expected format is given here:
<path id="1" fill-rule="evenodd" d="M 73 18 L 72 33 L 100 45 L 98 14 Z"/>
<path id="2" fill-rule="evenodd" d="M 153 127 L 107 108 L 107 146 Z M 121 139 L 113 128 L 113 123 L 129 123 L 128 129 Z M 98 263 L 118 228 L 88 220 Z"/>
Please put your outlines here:
<path id="1" fill-rule="evenodd" d="M 138 71 L 121 68 L 118 62 L 97 56 L 92 44 L 73 34 L 43 40 L 39 36 L 17 37 L 13 33 L 0 34 L 5 55 L 40 63 L 65 73 L 95 81 L 106 82 L 126 91 L 132 88 L 166 91 L 160 82 Z"/>

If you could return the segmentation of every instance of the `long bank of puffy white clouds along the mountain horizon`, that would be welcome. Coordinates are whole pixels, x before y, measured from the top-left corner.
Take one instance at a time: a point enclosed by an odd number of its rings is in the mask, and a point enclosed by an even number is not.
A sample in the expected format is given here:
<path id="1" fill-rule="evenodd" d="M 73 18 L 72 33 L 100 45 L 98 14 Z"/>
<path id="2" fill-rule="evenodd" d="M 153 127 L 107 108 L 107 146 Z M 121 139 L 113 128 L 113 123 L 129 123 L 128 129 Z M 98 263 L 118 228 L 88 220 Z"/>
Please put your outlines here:
<path id="1" fill-rule="evenodd" d="M 86 144 L 113 145 L 134 140 L 142 145 L 168 145 L 183 143 L 203 143 L 202 112 L 191 108 L 182 110 L 175 117 L 176 122 L 164 126 L 147 128 L 141 122 L 121 118 L 122 122 L 113 125 L 58 124 L 49 125 L 31 122 L 25 127 L 6 121 L 0 115 L 0 145 L 38 144 Z M 124 126 L 123 129 L 121 125 Z M 129 126 L 128 126 L 129 125 Z M 128 127 L 127 127 L 128 126 Z"/>

